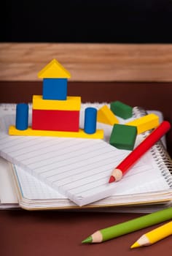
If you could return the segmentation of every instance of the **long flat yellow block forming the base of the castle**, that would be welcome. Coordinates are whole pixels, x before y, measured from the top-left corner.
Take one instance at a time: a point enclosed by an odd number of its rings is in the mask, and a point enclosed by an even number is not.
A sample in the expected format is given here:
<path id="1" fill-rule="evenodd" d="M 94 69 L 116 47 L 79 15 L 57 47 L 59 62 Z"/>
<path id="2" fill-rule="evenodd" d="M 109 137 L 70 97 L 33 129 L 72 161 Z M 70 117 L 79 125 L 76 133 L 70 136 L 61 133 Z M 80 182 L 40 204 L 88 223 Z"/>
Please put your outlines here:
<path id="1" fill-rule="evenodd" d="M 9 127 L 9 135 L 103 139 L 103 129 L 97 129 L 95 133 L 89 135 L 85 133 L 84 129 L 79 129 L 79 132 L 44 131 L 32 129 L 31 127 L 25 130 L 19 130 L 12 125 Z"/>

